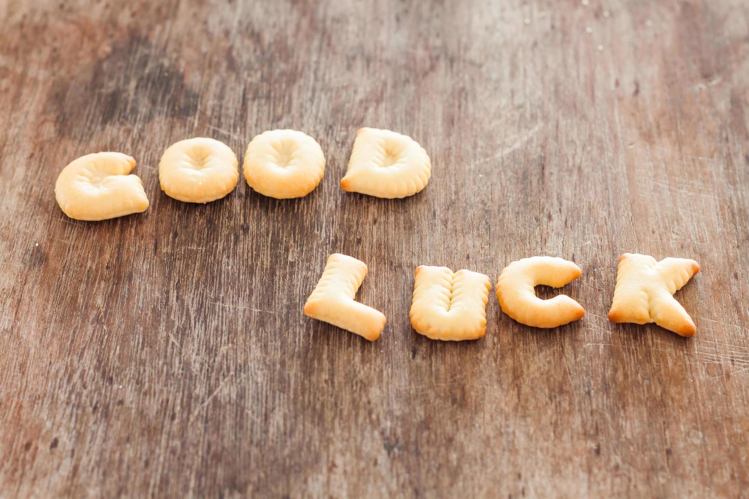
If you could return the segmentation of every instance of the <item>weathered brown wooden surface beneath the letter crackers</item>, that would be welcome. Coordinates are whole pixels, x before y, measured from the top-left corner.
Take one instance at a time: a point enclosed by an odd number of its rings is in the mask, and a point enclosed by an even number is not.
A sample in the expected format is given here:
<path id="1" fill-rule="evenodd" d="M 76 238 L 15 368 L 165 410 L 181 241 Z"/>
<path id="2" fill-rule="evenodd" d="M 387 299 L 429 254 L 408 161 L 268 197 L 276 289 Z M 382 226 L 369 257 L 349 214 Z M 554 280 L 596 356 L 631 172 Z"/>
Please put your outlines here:
<path id="1" fill-rule="evenodd" d="M 749 4 L 0 1 L 0 496 L 749 494 Z M 339 189 L 360 126 L 434 165 Z M 182 138 L 318 139 L 315 192 L 159 189 Z M 151 207 L 66 218 L 72 159 L 134 156 Z M 369 265 L 375 343 L 303 316 Z M 691 339 L 606 319 L 619 254 L 690 257 Z M 419 264 L 550 254 L 586 307 L 482 340 L 408 322 Z M 544 291 L 544 296 L 551 296 Z"/>

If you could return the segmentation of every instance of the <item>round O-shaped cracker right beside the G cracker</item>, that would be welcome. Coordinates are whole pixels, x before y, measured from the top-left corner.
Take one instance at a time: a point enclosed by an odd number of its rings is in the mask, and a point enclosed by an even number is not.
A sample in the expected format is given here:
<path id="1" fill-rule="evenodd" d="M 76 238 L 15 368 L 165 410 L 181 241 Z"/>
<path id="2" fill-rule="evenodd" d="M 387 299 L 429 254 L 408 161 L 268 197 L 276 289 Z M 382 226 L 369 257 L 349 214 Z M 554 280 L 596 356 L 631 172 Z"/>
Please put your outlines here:
<path id="1" fill-rule="evenodd" d="M 213 138 L 196 137 L 167 147 L 159 162 L 161 189 L 186 203 L 208 203 L 234 190 L 237 156 Z"/>

